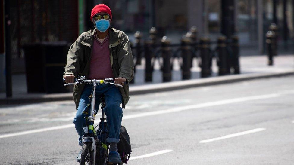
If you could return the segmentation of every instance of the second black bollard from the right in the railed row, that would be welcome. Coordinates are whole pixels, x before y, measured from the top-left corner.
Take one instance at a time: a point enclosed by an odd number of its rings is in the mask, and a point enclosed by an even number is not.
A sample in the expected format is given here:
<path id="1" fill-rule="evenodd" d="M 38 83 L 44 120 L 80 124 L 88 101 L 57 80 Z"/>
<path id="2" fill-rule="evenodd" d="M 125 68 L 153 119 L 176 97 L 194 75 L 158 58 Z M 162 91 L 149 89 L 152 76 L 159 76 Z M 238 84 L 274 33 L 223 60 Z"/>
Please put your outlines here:
<path id="1" fill-rule="evenodd" d="M 218 75 L 226 75 L 230 73 L 228 69 L 230 69 L 228 63 L 228 53 L 227 53 L 227 37 L 220 36 L 217 38 L 217 50 L 218 50 Z M 229 67 L 228 67 L 229 66 Z"/>

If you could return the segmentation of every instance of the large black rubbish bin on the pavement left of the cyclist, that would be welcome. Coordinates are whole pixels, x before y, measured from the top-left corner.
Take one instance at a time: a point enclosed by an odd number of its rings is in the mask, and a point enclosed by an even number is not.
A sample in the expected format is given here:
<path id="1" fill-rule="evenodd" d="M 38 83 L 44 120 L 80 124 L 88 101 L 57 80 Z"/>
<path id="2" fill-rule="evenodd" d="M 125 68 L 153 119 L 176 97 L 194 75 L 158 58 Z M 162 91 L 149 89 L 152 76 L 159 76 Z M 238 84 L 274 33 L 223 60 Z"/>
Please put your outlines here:
<path id="1" fill-rule="evenodd" d="M 69 44 L 65 41 L 41 42 L 24 46 L 27 90 L 29 93 L 64 93 L 62 75 Z"/>

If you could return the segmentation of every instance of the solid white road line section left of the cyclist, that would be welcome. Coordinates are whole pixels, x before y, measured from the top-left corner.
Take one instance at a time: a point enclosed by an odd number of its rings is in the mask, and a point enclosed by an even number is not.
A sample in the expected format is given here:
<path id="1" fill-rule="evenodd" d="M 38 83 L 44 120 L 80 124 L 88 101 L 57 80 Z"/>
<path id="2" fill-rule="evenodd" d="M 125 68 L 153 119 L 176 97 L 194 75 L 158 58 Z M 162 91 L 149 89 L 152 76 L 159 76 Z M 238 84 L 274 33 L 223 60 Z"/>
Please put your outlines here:
<path id="1" fill-rule="evenodd" d="M 37 132 L 44 132 L 44 131 L 51 131 L 51 130 L 60 130 L 60 129 L 69 128 L 69 127 L 74 127 L 74 124 L 67 124 L 67 125 L 63 125 L 63 126 L 41 128 L 41 129 L 23 131 L 23 132 L 18 132 L 18 133 L 8 133 L 8 134 L 0 135 L 0 138 L 6 138 L 6 137 L 11 137 L 11 136 L 19 136 L 19 135 L 25 135 L 25 134 L 37 133 Z"/>

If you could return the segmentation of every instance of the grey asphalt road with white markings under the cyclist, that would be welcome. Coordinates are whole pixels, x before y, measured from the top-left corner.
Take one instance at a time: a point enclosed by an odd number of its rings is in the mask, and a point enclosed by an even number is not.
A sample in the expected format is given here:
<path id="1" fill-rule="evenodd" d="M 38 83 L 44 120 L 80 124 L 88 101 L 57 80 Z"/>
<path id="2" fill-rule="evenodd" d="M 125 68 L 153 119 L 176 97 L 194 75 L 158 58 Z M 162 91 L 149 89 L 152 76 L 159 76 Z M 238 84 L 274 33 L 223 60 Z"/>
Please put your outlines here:
<path id="1" fill-rule="evenodd" d="M 136 95 L 130 165 L 293 164 L 294 76 Z M 72 101 L 0 106 L 0 164 L 78 164 Z"/>

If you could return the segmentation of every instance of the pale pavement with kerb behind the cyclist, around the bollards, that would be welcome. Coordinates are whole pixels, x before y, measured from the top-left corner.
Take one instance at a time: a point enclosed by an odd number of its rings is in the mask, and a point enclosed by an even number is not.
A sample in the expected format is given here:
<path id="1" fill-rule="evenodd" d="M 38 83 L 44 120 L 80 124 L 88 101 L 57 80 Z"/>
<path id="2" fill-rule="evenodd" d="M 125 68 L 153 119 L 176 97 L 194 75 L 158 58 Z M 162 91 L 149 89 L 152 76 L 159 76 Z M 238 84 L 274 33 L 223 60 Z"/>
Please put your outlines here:
<path id="1" fill-rule="evenodd" d="M 191 80 L 182 81 L 179 62 L 175 60 L 172 71 L 172 81 L 162 83 L 162 73 L 160 71 L 159 62 L 156 61 L 154 66 L 155 70 L 153 72 L 153 81 L 146 83 L 144 82 L 145 60 L 142 59 L 141 65 L 136 66 L 135 83 L 130 84 L 130 95 L 294 74 L 293 55 L 279 55 L 274 57 L 274 66 L 267 66 L 267 57 L 265 55 L 242 56 L 240 57 L 241 74 L 226 76 L 217 76 L 218 68 L 216 61 L 213 60 L 212 75 L 209 78 L 200 78 L 201 68 L 198 67 L 198 63 L 199 61 L 197 61 L 197 59 L 193 60 Z M 0 93 L 0 104 L 20 104 L 61 100 L 72 100 L 72 93 L 27 93 L 25 75 L 13 76 L 12 98 L 6 98 L 5 93 Z"/>

